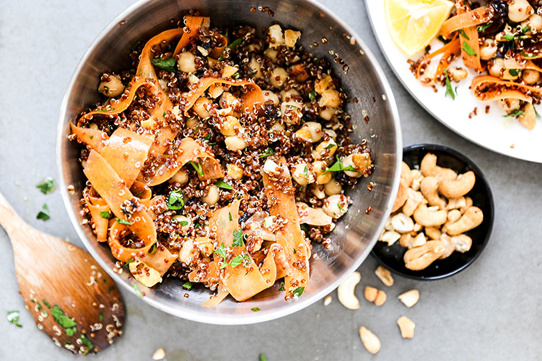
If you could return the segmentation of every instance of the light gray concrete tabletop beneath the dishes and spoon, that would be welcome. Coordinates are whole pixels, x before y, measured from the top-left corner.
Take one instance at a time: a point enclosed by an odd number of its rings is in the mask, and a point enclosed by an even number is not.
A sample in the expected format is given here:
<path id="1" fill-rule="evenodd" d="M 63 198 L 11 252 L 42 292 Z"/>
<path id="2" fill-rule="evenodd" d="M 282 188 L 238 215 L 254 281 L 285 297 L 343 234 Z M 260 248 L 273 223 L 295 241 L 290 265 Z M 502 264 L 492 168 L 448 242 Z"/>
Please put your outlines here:
<path id="1" fill-rule="evenodd" d="M 381 1 L 381 0 L 369 0 Z M 95 36 L 133 0 L 7 1 L 0 10 L 0 190 L 31 225 L 82 246 L 58 190 L 47 196 L 35 185 L 56 176 L 55 133 L 60 101 L 76 63 Z M 345 19 L 381 61 L 402 115 L 404 145 L 445 144 L 472 158 L 493 187 L 496 205 L 491 243 L 477 262 L 452 278 L 416 282 L 395 277 L 384 287 L 376 262 L 360 267 L 356 294 L 372 285 L 386 289 L 377 308 L 361 300 L 356 311 L 322 301 L 289 317 L 251 326 L 211 326 L 176 319 L 123 292 L 128 308 L 124 336 L 99 360 L 151 360 L 159 347 L 167 360 L 541 360 L 540 273 L 542 165 L 503 158 L 471 144 L 432 119 L 393 76 L 381 56 L 359 0 L 322 0 Z M 256 3 L 255 3 L 256 4 Z M 256 5 L 259 5 L 256 4 Z M 265 4 L 263 4 L 265 5 Z M 541 126 L 541 125 L 539 125 Z M 49 221 L 35 219 L 43 203 Z M 54 260 L 51 260 L 54 262 Z M 0 230 L 0 360 L 74 360 L 33 325 L 24 310 L 6 233 Z M 407 309 L 397 295 L 420 289 Z M 17 328 L 5 319 L 21 310 Z M 416 322 L 413 339 L 402 339 L 395 321 Z M 360 326 L 379 335 L 377 355 L 361 344 Z M 90 358 L 95 358 L 90 356 Z"/>

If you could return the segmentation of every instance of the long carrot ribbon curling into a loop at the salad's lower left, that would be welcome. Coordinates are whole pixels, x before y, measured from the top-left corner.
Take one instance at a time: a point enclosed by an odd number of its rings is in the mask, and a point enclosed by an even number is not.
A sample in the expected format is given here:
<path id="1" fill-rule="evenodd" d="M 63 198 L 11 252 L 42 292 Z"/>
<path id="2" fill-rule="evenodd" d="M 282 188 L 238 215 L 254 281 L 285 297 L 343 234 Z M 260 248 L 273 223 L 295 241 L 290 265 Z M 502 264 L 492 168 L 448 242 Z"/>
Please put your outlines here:
<path id="1" fill-rule="evenodd" d="M 124 221 L 129 221 L 131 224 L 128 228 L 142 240 L 144 246 L 140 249 L 129 249 L 120 244 L 117 237 L 119 236 L 120 226 L 124 226 L 115 222 L 111 228 L 109 238 L 109 246 L 111 253 L 118 260 L 128 262 L 130 259 L 138 256 L 141 257 L 149 251 L 152 244 L 156 242 L 156 227 L 151 217 L 145 210 L 136 210 L 131 215 L 130 219 L 126 219 L 122 212 L 121 205 L 125 201 L 132 200 L 133 194 L 120 176 L 115 173 L 115 170 L 106 162 L 104 157 L 100 156 L 97 151 L 90 151 L 85 169 L 85 176 L 92 184 L 92 187 L 98 192 L 104 201 L 109 205 L 113 214 Z M 114 230 L 117 232 L 115 234 Z"/>

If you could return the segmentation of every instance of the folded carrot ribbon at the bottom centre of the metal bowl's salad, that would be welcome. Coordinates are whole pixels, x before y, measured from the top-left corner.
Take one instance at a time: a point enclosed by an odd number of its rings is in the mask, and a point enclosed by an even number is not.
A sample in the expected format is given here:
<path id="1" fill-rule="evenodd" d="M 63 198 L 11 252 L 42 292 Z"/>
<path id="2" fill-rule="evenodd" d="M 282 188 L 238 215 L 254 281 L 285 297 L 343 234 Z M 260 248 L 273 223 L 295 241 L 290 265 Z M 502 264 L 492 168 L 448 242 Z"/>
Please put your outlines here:
<path id="1" fill-rule="evenodd" d="M 223 265 L 236 256 L 243 256 L 240 265 L 234 267 L 228 264 L 219 275 L 229 294 L 237 301 L 245 301 L 274 284 L 277 279 L 277 267 L 272 251 L 266 256 L 260 270 L 247 252 L 244 243 L 241 246 L 233 246 L 233 231 L 239 228 L 239 203 L 240 200 L 215 211 L 209 219 L 209 228 L 211 232 L 216 233 L 219 246 L 224 244 L 225 249 L 231 249 L 227 259 L 222 259 L 222 255 L 216 252 L 213 253 L 215 264 Z"/>

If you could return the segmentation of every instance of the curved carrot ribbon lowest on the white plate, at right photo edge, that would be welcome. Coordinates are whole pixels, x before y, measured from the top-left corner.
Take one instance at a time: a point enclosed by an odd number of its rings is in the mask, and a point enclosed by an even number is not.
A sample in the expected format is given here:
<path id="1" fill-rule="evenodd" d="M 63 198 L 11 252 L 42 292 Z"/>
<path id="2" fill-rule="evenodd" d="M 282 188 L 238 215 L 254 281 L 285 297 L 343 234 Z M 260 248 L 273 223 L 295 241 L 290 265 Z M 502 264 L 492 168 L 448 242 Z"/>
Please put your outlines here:
<path id="1" fill-rule="evenodd" d="M 542 88 L 531 87 L 515 83 L 514 81 L 504 81 L 494 76 L 477 76 L 471 83 L 474 96 L 479 101 L 494 101 L 500 99 L 519 99 L 532 103 L 532 97 L 529 93 L 542 95 Z"/>

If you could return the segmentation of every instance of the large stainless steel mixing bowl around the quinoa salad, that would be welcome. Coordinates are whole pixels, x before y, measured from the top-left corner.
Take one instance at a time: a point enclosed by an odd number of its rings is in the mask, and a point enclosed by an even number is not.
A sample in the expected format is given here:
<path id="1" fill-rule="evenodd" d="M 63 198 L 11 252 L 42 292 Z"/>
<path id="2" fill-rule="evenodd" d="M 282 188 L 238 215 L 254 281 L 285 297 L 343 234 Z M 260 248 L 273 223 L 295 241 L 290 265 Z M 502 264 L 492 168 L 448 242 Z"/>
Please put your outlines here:
<path id="1" fill-rule="evenodd" d="M 268 12 L 251 8 L 268 6 Z M 235 26 L 249 24 L 256 29 L 274 23 L 283 28 L 302 31 L 301 44 L 315 56 L 330 60 L 340 84 L 350 99 L 347 111 L 356 126 L 355 142 L 367 139 L 375 160 L 375 172 L 370 178 L 361 178 L 356 189 L 348 190 L 352 197 L 350 210 L 331 235 L 331 247 L 325 249 L 314 244 L 311 259 L 311 282 L 299 299 L 284 301 L 284 292 L 278 285 L 254 296 L 249 301 L 238 303 L 227 298 L 215 308 L 204 308 L 211 292 L 204 287 L 195 287 L 187 292 L 176 279 L 166 279 L 152 289 L 147 289 L 129 279 L 129 272 L 113 272 L 115 259 L 108 246 L 98 244 L 88 226 L 81 226 L 79 214 L 81 190 L 85 178 L 77 161 L 79 146 L 69 142 L 69 121 L 79 112 L 98 100 L 97 85 L 102 72 L 111 69 L 120 71 L 129 65 L 129 49 L 138 40 L 148 40 L 160 31 L 172 28 L 170 19 L 181 19 L 189 9 L 198 9 L 202 15 L 211 17 L 211 26 Z M 323 44 L 322 38 L 327 38 Z M 318 46 L 315 46 L 318 44 Z M 334 62 L 335 56 L 343 64 Z M 366 115 L 368 121 L 363 120 Z M 377 237 L 384 228 L 397 193 L 402 158 L 402 142 L 399 117 L 388 81 L 369 49 L 352 29 L 312 0 L 145 0 L 136 3 L 115 19 L 95 40 L 76 67 L 60 110 L 57 139 L 57 162 L 60 185 L 69 217 L 88 251 L 101 267 L 122 287 L 134 292 L 131 285 L 137 284 L 145 292 L 143 301 L 156 308 L 185 319 L 209 324 L 251 324 L 285 316 L 318 301 L 333 291 L 339 283 L 370 253 Z M 372 181 L 372 192 L 367 185 Z M 74 185 L 74 194 L 67 192 L 67 185 Z M 370 211 L 366 210 L 370 208 Z M 186 298 L 184 294 L 190 296 Z M 259 312 L 251 308 L 258 307 Z"/>

